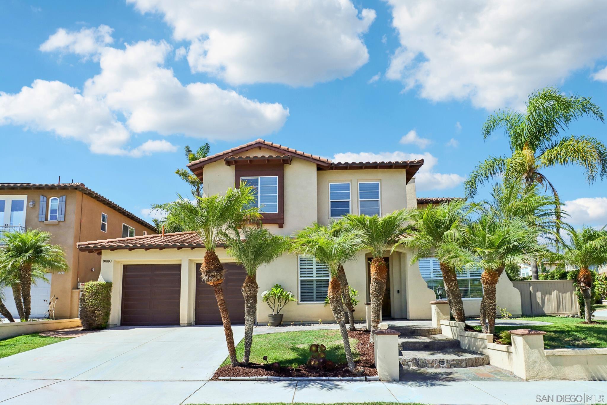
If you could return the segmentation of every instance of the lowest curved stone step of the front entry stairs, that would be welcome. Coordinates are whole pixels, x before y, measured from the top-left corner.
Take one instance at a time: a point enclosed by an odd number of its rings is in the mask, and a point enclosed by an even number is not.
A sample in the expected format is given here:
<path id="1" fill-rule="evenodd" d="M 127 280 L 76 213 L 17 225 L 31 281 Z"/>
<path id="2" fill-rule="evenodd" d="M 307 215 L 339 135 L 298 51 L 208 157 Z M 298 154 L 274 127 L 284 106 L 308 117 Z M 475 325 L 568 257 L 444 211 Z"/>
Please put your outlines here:
<path id="1" fill-rule="evenodd" d="M 403 350 L 399 356 L 406 369 L 455 369 L 489 364 L 489 356 L 464 349 Z"/>

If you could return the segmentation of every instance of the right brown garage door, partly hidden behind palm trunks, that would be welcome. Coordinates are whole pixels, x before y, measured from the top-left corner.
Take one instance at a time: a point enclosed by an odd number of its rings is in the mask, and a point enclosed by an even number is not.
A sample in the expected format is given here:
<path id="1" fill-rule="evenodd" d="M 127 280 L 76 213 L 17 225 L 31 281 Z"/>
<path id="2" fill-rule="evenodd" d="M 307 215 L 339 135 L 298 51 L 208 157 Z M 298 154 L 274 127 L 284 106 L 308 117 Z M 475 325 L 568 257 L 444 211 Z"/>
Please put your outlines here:
<path id="1" fill-rule="evenodd" d="M 235 263 L 223 264 L 225 279 L 223 281 L 223 296 L 229 311 L 232 324 L 245 323 L 245 299 L 242 297 L 243 282 L 245 282 L 245 269 Z M 196 324 L 220 325 L 222 317 L 219 315 L 217 300 L 213 288 L 202 281 L 200 277 L 200 264 L 196 266 Z"/>

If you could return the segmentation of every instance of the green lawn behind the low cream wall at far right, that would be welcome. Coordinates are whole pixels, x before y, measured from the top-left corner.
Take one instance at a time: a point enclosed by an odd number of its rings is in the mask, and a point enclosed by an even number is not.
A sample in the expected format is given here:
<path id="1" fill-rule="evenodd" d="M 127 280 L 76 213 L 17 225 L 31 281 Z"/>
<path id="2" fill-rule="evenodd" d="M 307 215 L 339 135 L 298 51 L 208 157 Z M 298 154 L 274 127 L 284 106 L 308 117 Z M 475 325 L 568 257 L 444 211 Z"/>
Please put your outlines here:
<path id="1" fill-rule="evenodd" d="M 552 322 L 552 325 L 529 326 L 498 326 L 495 325 L 495 335 L 502 330 L 529 328 L 543 330 L 544 347 L 557 349 L 559 347 L 607 347 L 607 321 L 597 321 L 598 325 L 584 325 L 580 318 L 560 318 L 558 316 L 536 316 L 517 318 L 517 320 Z M 474 327 L 481 330 L 480 326 Z"/>

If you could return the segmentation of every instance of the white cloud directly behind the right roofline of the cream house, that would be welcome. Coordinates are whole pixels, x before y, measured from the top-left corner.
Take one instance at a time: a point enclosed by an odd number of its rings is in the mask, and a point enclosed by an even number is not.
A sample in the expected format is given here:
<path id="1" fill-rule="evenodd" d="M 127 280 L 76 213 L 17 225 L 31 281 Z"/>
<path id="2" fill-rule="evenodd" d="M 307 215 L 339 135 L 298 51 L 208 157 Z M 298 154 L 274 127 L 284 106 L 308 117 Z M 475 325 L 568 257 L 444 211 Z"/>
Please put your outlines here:
<path id="1" fill-rule="evenodd" d="M 419 160 L 424 159 L 424 165 L 419 169 L 416 174 L 415 187 L 418 191 L 429 191 L 429 190 L 442 190 L 454 188 L 466 180 L 459 174 L 449 173 L 437 173 L 435 172 L 434 166 L 438 163 L 438 159 L 425 152 L 423 154 L 405 153 L 405 152 L 345 152 L 335 154 L 333 157 L 334 162 L 400 162 L 401 160 Z"/>

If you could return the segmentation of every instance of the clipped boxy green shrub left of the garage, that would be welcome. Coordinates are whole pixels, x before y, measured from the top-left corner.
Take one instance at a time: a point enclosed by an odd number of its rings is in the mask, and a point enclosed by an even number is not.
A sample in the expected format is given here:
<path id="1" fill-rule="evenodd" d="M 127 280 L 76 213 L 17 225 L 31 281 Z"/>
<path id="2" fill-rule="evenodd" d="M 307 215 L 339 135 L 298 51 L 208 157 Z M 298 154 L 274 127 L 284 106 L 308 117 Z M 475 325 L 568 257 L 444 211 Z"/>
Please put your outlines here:
<path id="1" fill-rule="evenodd" d="M 112 307 L 112 283 L 89 281 L 80 297 L 80 320 L 84 329 L 107 327 Z"/>

